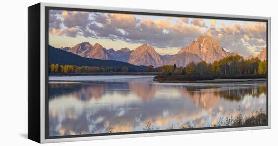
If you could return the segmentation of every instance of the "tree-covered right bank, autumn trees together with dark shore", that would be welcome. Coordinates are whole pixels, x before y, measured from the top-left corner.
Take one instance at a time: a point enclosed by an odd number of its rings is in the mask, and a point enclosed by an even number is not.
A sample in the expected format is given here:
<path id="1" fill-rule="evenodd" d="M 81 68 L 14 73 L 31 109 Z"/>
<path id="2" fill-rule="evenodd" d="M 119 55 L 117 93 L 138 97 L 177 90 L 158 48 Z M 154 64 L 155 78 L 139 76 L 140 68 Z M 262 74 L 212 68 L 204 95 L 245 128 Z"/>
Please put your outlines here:
<path id="1" fill-rule="evenodd" d="M 267 62 L 259 58 L 244 60 L 242 56 L 228 56 L 212 64 L 205 61 L 191 62 L 186 67 L 164 65 L 163 75 L 154 77 L 154 81 L 182 83 L 221 79 L 254 79 L 266 78 Z"/>

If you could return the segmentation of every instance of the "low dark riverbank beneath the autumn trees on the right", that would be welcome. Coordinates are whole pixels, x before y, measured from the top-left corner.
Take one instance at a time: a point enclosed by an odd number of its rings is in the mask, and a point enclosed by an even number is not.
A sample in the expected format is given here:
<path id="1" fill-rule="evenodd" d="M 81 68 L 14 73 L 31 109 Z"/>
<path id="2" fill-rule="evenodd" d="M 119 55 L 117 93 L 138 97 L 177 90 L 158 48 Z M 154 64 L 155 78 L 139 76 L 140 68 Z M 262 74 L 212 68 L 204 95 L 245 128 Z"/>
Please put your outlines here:
<path id="1" fill-rule="evenodd" d="M 247 82 L 247 81 L 266 81 L 265 78 L 249 78 L 249 79 L 227 79 L 217 78 L 214 79 L 210 76 L 198 77 L 198 76 L 156 76 L 154 81 L 160 83 L 228 83 L 228 82 Z"/>

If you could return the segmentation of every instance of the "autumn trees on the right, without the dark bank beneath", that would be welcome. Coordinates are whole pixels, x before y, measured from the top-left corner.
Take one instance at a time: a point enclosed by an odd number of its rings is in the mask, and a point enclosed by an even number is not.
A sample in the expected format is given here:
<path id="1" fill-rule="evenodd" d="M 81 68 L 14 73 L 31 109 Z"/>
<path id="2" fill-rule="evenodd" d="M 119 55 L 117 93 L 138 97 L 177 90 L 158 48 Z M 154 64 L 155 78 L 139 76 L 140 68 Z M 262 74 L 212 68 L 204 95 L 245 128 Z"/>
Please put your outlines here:
<path id="1" fill-rule="evenodd" d="M 225 76 L 225 75 L 266 75 L 267 63 L 259 58 L 251 58 L 244 60 L 242 56 L 228 56 L 219 61 L 214 61 L 213 64 L 208 64 L 205 61 L 199 63 L 189 63 L 186 67 L 176 67 L 174 65 L 164 65 L 161 67 L 164 74 L 183 74 L 195 76 Z"/>

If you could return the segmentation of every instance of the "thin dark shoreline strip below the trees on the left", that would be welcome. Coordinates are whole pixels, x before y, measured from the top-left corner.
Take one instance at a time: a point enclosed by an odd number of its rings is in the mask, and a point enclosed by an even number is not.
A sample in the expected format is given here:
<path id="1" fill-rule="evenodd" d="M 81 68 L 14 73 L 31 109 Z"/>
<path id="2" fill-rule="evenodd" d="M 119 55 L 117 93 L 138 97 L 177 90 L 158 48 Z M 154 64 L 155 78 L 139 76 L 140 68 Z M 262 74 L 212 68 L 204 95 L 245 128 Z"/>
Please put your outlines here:
<path id="1" fill-rule="evenodd" d="M 111 72 L 111 73 L 49 73 L 49 76 L 159 76 L 162 75 L 161 72 Z"/>

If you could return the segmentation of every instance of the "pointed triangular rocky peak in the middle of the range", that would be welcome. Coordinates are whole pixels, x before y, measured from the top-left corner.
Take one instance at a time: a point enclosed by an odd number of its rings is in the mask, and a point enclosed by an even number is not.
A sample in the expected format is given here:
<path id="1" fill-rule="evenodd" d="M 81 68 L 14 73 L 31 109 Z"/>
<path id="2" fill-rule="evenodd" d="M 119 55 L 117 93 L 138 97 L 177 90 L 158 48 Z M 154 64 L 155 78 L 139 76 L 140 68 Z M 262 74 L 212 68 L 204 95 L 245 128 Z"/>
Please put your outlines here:
<path id="1" fill-rule="evenodd" d="M 147 44 L 142 44 L 130 54 L 128 63 L 134 65 L 152 65 L 157 67 L 163 65 L 163 59 L 153 47 L 148 46 Z"/>

